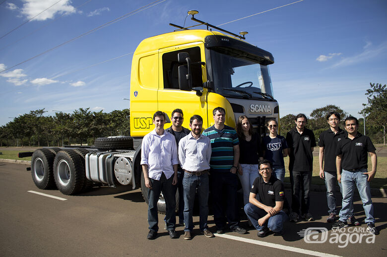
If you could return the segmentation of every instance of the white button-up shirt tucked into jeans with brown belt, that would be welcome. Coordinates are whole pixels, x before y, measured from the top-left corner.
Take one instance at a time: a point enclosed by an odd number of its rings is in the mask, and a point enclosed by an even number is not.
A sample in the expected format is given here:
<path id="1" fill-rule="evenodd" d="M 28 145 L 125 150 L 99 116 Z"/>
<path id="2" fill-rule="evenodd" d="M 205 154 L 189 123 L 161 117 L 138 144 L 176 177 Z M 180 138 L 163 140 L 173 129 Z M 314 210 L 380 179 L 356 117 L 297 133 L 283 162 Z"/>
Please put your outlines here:
<path id="1" fill-rule="evenodd" d="M 211 142 L 208 137 L 200 135 L 198 139 L 195 139 L 190 133 L 179 142 L 180 165 L 188 171 L 209 169 L 211 151 Z"/>

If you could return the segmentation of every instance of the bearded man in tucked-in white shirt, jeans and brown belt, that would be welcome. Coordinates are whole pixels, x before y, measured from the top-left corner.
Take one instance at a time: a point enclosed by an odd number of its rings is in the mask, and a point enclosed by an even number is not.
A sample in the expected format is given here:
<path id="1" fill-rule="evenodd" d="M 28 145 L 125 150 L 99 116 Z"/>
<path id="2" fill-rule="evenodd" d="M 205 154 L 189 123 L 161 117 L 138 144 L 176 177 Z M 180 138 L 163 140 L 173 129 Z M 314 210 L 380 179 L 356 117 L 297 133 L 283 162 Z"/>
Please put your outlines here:
<path id="1" fill-rule="evenodd" d="M 192 239 L 194 229 L 192 214 L 195 192 L 199 202 L 199 228 L 206 237 L 213 237 L 208 230 L 208 170 L 211 158 L 210 139 L 201 134 L 203 119 L 194 115 L 190 119 L 191 133 L 179 142 L 179 161 L 184 170 L 184 239 Z"/>

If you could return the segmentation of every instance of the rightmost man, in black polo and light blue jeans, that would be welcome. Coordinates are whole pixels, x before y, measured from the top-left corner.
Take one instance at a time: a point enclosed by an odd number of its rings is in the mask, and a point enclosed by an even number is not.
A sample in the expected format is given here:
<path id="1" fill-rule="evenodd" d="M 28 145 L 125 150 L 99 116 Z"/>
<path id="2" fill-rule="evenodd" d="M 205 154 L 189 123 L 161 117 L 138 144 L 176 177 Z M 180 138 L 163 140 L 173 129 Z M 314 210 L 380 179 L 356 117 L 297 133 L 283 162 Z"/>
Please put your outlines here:
<path id="1" fill-rule="evenodd" d="M 375 227 L 374 206 L 370 190 L 370 181 L 375 177 L 378 162 L 375 153 L 376 148 L 369 137 L 357 132 L 358 126 L 359 122 L 355 117 L 349 116 L 346 118 L 345 129 L 348 134 L 337 143 L 336 171 L 337 180 L 342 186 L 343 201 L 339 213 L 340 218 L 333 224 L 332 228 L 348 226 L 348 213 L 356 186 L 366 214 L 367 231 L 378 235 L 379 231 Z M 368 154 L 371 156 L 371 171 L 367 171 Z"/>

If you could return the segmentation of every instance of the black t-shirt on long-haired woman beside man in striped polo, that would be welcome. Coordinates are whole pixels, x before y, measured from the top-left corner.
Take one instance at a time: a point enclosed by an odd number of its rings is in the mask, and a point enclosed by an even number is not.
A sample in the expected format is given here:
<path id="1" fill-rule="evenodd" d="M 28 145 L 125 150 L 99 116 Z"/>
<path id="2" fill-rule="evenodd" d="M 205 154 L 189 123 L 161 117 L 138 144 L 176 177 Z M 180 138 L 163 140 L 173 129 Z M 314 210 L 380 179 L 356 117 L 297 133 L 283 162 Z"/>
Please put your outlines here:
<path id="1" fill-rule="evenodd" d="M 258 164 L 260 156 L 260 136 L 253 133 L 251 140 L 239 139 L 239 163 Z"/>

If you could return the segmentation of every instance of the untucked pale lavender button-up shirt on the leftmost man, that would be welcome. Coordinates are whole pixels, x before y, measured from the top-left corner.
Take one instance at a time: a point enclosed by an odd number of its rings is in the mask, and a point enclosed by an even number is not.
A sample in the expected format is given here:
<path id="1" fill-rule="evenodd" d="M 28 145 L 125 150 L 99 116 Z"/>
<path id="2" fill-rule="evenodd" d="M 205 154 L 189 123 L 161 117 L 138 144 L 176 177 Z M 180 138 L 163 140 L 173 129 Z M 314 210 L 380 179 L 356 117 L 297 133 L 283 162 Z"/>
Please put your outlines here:
<path id="1" fill-rule="evenodd" d="M 174 174 L 173 165 L 179 164 L 175 137 L 166 132 L 160 136 L 156 130 L 146 134 L 141 143 L 141 162 L 148 166 L 149 178 L 160 180 L 161 174 L 170 178 Z"/>

